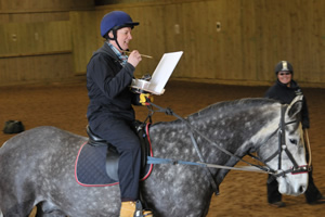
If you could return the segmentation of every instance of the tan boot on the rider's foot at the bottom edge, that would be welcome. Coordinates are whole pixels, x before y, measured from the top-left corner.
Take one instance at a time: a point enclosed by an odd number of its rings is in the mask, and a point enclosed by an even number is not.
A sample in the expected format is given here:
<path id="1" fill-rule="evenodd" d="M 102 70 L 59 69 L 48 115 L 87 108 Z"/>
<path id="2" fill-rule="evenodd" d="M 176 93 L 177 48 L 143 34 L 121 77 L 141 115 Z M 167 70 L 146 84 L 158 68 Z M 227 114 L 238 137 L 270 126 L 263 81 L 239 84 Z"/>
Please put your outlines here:
<path id="1" fill-rule="evenodd" d="M 151 210 L 144 210 L 140 201 L 122 202 L 120 207 L 120 217 L 153 217 Z"/>

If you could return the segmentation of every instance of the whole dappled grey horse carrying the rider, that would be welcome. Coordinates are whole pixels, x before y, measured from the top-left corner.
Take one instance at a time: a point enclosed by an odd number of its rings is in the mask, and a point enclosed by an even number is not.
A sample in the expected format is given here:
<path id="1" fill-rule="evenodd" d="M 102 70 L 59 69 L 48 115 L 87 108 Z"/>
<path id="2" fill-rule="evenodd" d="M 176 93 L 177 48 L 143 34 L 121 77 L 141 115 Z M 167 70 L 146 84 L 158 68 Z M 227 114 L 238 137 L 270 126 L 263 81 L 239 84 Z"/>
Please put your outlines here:
<path id="1" fill-rule="evenodd" d="M 306 165 L 298 113 L 301 97 L 284 114 L 285 143 L 298 166 Z M 278 165 L 281 105 L 266 99 L 243 99 L 210 105 L 185 119 L 206 163 L 234 166 L 257 152 L 274 170 L 290 169 L 292 161 L 282 152 Z M 199 162 L 185 122 L 156 123 L 150 129 L 156 157 Z M 200 133 L 197 133 L 200 132 Z M 210 141 L 205 139 L 205 136 Z M 120 208 L 119 187 L 82 187 L 75 180 L 75 161 L 88 140 L 54 127 L 38 127 L 8 140 L 0 149 L 0 208 L 4 217 L 25 217 L 39 204 L 38 216 L 114 217 Z M 213 141 L 211 143 L 211 141 Z M 270 158 L 272 154 L 274 154 Z M 211 168 L 218 184 L 227 169 Z M 307 188 L 307 173 L 278 176 L 281 193 L 298 195 Z M 155 216 L 198 217 L 208 214 L 213 190 L 205 169 L 191 165 L 157 164 L 141 182 L 144 201 Z M 41 210 L 40 210 L 41 209 Z M 1 216 L 1 212 L 0 212 Z"/>

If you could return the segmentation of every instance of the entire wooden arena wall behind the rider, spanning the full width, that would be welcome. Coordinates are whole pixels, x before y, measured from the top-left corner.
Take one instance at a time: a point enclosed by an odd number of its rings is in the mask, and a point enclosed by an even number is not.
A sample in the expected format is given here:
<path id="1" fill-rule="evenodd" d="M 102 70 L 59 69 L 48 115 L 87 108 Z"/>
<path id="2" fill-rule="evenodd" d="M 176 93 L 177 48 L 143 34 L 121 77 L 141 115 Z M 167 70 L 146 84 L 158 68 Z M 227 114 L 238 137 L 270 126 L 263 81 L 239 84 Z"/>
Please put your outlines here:
<path id="1" fill-rule="evenodd" d="M 165 52 L 182 50 L 173 78 L 270 85 L 274 65 L 287 60 L 302 86 L 325 87 L 323 0 L 94 2 L 0 0 L 0 85 L 84 75 L 103 44 L 103 15 L 122 10 L 141 23 L 131 49 L 154 56 L 143 59 L 136 77 L 151 74 Z"/>

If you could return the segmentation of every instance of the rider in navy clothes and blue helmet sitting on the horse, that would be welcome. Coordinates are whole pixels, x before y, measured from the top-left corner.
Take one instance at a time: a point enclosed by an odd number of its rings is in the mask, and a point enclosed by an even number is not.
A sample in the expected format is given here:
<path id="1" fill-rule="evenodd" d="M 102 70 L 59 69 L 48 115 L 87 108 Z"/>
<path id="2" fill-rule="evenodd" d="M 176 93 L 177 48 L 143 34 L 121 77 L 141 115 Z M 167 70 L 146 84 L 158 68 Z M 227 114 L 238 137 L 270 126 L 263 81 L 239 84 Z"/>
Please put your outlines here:
<path id="1" fill-rule="evenodd" d="M 139 204 L 141 145 L 134 132 L 132 104 L 144 104 L 148 94 L 130 91 L 133 73 L 141 61 L 138 50 L 126 55 L 132 39 L 131 30 L 139 25 L 122 11 L 106 14 L 101 22 L 104 46 L 92 55 L 87 66 L 90 104 L 87 117 L 91 130 L 114 145 L 120 154 L 119 187 L 121 217 L 131 217 Z M 143 210 L 143 216 L 153 216 Z M 141 215 L 141 216 L 142 216 Z"/>

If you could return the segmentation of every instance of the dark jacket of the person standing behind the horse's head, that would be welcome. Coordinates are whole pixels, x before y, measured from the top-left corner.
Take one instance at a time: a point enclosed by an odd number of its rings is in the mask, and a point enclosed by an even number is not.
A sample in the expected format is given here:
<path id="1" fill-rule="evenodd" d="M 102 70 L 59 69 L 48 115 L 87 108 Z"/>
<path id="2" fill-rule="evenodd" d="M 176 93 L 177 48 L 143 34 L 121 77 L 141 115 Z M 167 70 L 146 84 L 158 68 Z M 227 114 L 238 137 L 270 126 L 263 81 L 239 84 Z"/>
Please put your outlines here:
<path id="1" fill-rule="evenodd" d="M 282 84 L 280 80 L 266 91 L 265 98 L 274 99 L 283 104 L 290 104 L 291 101 L 298 95 L 302 94 L 300 87 L 295 80 L 291 80 L 290 87 Z M 309 112 L 307 106 L 307 101 L 303 95 L 303 104 L 301 110 L 301 124 L 302 128 L 309 128 Z"/>

